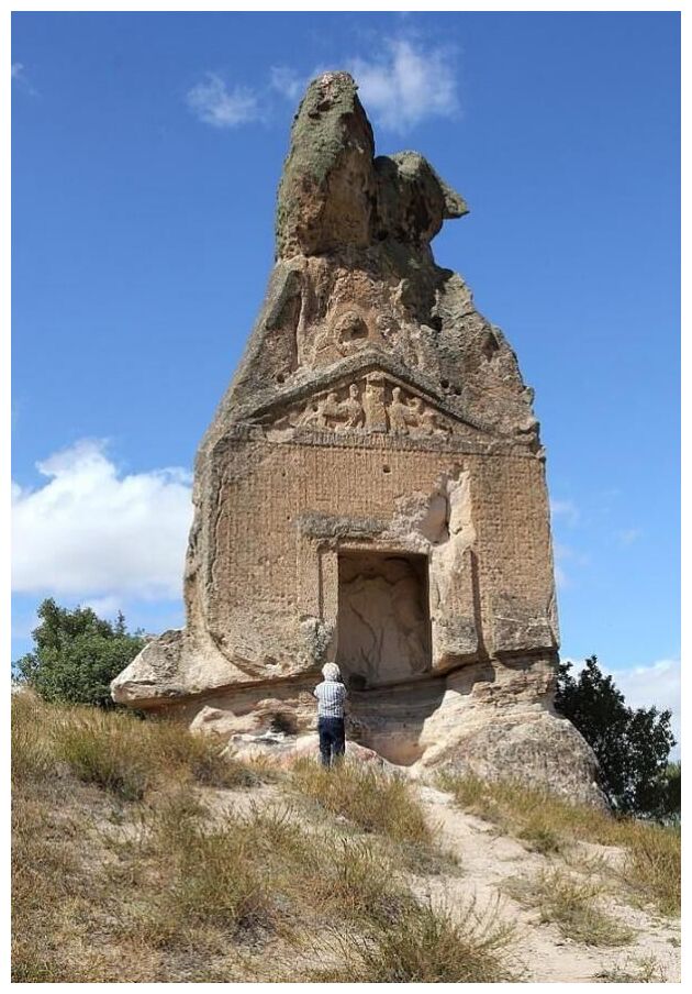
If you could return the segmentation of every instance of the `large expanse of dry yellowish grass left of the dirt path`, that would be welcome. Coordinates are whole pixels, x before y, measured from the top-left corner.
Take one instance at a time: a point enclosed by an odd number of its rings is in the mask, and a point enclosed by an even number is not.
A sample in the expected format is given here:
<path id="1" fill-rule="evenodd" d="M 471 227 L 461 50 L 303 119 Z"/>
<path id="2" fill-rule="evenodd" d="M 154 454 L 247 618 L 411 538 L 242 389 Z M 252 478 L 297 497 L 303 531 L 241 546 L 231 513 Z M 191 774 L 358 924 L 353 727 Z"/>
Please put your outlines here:
<path id="1" fill-rule="evenodd" d="M 366 972 L 388 930 L 417 942 L 421 975 L 451 943 L 451 919 L 421 907 L 405 879 L 397 847 L 428 842 L 405 784 L 344 771 L 337 788 L 332 777 L 326 797 L 348 811 L 343 826 L 325 824 L 320 806 L 308 824 L 290 804 L 247 809 L 246 792 L 212 810 L 207 784 L 255 783 L 255 771 L 220 765 L 179 726 L 21 698 L 14 981 L 253 982 L 276 980 L 267 971 L 282 963 L 295 982 L 314 967 L 300 958 L 305 937 L 325 923 Z"/>

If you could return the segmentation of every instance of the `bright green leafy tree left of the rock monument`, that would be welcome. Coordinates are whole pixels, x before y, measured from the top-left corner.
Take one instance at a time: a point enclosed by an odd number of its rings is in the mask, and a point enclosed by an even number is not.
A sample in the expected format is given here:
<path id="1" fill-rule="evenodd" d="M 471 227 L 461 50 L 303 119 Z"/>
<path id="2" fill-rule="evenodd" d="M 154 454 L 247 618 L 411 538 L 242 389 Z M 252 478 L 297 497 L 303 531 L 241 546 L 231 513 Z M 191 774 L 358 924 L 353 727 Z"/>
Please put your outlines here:
<path id="1" fill-rule="evenodd" d="M 130 633 L 120 612 L 111 625 L 89 607 L 69 610 L 53 598 L 38 617 L 33 652 L 14 663 L 18 681 L 45 700 L 114 707 L 110 682 L 143 648 L 142 632 Z"/>

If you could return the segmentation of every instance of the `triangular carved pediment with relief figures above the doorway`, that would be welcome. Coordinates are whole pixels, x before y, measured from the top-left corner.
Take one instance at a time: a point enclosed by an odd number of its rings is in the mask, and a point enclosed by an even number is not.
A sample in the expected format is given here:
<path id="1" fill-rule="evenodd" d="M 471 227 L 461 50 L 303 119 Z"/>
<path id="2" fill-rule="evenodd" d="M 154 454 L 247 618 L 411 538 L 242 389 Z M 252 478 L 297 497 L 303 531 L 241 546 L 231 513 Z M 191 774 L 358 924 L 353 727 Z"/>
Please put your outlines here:
<path id="1" fill-rule="evenodd" d="M 288 405 L 278 401 L 258 420 L 279 431 L 388 433 L 443 440 L 478 434 L 476 426 L 445 410 L 425 390 L 382 369 L 341 377 Z"/>

